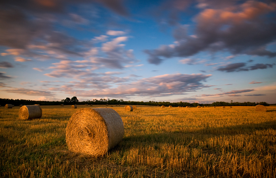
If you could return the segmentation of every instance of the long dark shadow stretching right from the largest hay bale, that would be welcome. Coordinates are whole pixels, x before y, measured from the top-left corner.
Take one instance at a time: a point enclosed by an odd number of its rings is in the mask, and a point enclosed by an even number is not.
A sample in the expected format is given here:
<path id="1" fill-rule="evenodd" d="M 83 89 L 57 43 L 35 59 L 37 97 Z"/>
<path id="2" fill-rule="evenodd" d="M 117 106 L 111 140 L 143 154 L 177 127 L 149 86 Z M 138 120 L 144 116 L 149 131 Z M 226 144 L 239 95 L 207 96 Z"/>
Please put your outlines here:
<path id="1" fill-rule="evenodd" d="M 152 146 L 158 143 L 189 145 L 193 139 L 207 140 L 214 136 L 227 136 L 238 134 L 254 134 L 256 131 L 267 129 L 276 129 L 276 120 L 261 122 L 258 124 L 242 124 L 230 127 L 211 128 L 208 125 L 194 131 L 184 132 L 165 132 L 137 136 L 128 136 L 123 138 L 122 142 L 114 149 L 129 149 L 135 146 Z M 155 146 L 154 146 L 155 147 Z"/>

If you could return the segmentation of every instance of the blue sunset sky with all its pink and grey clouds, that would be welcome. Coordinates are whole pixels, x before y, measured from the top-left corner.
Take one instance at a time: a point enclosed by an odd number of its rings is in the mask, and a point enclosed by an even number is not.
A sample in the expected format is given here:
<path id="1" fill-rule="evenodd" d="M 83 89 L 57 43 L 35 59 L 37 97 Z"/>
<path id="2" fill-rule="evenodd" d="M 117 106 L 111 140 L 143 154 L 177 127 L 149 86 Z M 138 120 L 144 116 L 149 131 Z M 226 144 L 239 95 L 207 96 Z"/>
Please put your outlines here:
<path id="1" fill-rule="evenodd" d="M 0 98 L 276 103 L 272 0 L 0 2 Z"/>

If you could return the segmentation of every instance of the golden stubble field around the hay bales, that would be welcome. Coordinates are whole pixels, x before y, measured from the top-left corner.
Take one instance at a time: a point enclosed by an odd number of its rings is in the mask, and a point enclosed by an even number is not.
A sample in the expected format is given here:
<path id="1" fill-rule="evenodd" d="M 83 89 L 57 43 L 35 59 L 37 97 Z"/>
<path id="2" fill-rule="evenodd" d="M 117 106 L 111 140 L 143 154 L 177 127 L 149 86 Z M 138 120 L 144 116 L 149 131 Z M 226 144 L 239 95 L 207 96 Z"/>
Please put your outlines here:
<path id="1" fill-rule="evenodd" d="M 91 106 L 41 106 L 30 121 L 18 119 L 20 107 L 0 107 L 0 177 L 276 177 L 275 106 L 124 106 L 112 108 L 125 136 L 101 158 L 66 145 L 69 118 Z"/>

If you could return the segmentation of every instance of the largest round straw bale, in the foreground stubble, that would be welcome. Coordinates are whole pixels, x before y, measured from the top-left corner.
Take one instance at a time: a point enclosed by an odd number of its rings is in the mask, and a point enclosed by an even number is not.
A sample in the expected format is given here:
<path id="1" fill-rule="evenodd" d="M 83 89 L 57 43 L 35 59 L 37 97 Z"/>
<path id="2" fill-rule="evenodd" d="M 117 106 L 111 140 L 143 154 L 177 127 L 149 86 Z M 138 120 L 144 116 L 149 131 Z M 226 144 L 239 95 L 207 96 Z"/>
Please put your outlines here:
<path id="1" fill-rule="evenodd" d="M 84 108 L 73 114 L 66 127 L 69 151 L 99 157 L 124 137 L 121 116 L 111 108 Z"/>

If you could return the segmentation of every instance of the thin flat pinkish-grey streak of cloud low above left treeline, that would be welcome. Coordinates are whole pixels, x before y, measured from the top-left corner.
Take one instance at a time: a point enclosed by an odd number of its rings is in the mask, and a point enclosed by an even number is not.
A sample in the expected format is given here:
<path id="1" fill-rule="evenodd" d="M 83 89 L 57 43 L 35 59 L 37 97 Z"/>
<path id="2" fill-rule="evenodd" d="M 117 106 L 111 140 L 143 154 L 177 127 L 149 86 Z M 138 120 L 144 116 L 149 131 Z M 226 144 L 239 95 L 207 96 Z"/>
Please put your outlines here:
<path id="1" fill-rule="evenodd" d="M 7 93 L 16 93 L 20 95 L 30 95 L 30 96 L 54 96 L 55 95 L 49 91 L 32 90 L 32 89 L 24 89 L 24 88 L 12 88 L 12 89 L 1 90 L 1 91 L 7 92 Z"/>

